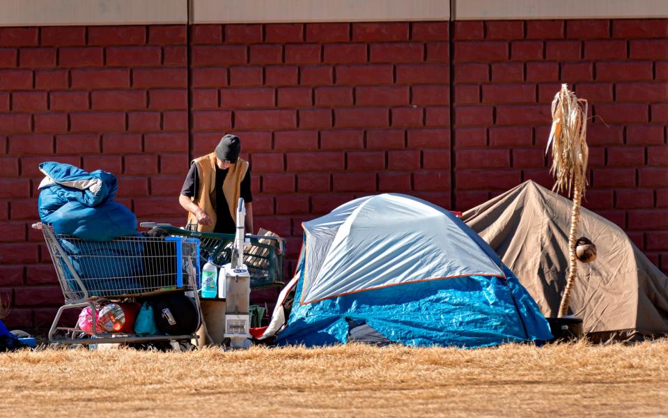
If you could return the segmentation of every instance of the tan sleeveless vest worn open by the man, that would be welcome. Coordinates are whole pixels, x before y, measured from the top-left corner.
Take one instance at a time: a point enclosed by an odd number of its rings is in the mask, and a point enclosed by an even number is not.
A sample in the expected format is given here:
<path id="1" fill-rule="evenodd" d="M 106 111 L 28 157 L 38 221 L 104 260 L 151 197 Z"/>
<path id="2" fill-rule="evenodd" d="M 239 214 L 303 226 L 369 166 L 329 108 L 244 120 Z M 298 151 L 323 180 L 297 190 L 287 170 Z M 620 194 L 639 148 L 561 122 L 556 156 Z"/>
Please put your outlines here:
<path id="1" fill-rule="evenodd" d="M 210 225 L 198 224 L 197 217 L 188 212 L 188 224 L 197 224 L 197 231 L 212 232 L 218 220 L 214 206 L 218 207 L 219 204 L 216 202 L 216 153 L 195 158 L 192 164 L 196 164 L 199 183 L 195 185 L 197 199 L 193 198 L 192 201 L 209 215 L 212 222 Z M 230 165 L 223 182 L 223 194 L 232 219 L 236 219 L 237 205 L 241 196 L 241 181 L 247 171 L 248 162 L 239 158 L 235 164 Z"/>

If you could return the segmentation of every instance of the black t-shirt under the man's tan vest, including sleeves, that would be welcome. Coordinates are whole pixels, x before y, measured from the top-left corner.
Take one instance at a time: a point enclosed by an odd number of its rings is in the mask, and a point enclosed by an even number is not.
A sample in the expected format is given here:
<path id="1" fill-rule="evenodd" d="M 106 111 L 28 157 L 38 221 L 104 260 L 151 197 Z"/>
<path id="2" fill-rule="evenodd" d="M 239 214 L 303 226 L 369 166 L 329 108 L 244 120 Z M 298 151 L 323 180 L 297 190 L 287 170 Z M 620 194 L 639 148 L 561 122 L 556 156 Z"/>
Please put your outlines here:
<path id="1" fill-rule="evenodd" d="M 216 210 L 217 222 L 213 229 L 215 233 L 235 233 L 236 225 L 228 209 L 225 201 L 225 194 L 223 193 L 223 182 L 227 176 L 228 169 L 219 169 L 216 167 L 216 201 L 211 202 Z M 195 164 L 190 164 L 190 171 L 183 182 L 181 194 L 188 197 L 197 197 L 196 185 L 199 183 L 199 175 Z M 248 167 L 246 176 L 241 180 L 241 197 L 244 198 L 244 203 L 251 203 L 253 201 L 253 194 L 251 194 L 251 167 Z M 219 205 L 218 202 L 224 202 Z"/>

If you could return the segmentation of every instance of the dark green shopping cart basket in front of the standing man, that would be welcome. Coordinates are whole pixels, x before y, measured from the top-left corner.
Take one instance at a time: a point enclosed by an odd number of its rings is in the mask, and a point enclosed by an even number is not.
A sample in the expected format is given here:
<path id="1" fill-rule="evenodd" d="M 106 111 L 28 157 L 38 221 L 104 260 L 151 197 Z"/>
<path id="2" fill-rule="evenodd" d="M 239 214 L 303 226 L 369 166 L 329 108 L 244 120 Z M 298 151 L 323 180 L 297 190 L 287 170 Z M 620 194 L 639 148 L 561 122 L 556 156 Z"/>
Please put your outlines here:
<path id="1" fill-rule="evenodd" d="M 160 228 L 173 236 L 198 238 L 200 241 L 200 268 L 209 257 L 216 265 L 230 263 L 234 247 L 233 233 L 198 232 L 171 224 L 142 222 L 143 228 Z M 271 235 L 246 235 L 250 245 L 244 250 L 244 264 L 251 276 L 251 289 L 258 290 L 283 286 L 285 240 Z"/>

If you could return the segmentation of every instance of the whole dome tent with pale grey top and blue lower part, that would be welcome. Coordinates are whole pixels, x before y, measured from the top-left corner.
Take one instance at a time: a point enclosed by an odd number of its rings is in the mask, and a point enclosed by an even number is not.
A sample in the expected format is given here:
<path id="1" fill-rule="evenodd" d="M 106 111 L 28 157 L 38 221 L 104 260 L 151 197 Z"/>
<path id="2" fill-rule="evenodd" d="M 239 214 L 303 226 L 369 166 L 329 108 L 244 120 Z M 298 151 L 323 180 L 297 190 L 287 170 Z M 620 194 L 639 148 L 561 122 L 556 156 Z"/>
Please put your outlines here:
<path id="1" fill-rule="evenodd" d="M 279 344 L 345 343 L 359 326 L 376 340 L 380 335 L 408 346 L 481 347 L 551 337 L 511 271 L 443 208 L 380 194 L 302 226 L 297 272 L 261 339 L 280 330 Z"/>

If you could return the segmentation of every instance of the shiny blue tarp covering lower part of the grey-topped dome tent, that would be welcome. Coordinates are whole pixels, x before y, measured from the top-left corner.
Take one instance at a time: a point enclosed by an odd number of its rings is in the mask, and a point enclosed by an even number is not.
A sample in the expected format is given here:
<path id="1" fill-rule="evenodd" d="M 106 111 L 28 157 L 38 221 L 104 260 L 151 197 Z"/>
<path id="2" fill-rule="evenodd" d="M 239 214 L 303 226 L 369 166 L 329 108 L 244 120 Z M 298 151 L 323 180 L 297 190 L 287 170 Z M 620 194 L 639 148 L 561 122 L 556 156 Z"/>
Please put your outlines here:
<path id="1" fill-rule="evenodd" d="M 510 274 L 402 284 L 304 305 L 302 283 L 278 344 L 346 343 L 345 318 L 406 346 L 474 348 L 552 338 L 536 302 Z"/>

